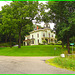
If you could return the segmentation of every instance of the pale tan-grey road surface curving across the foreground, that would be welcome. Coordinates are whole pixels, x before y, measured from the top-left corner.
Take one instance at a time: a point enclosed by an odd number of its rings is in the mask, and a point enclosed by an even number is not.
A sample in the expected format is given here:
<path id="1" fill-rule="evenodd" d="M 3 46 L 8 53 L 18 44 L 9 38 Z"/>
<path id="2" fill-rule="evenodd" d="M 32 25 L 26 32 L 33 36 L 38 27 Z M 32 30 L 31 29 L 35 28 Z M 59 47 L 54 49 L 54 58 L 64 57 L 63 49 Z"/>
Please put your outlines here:
<path id="1" fill-rule="evenodd" d="M 10 57 L 0 56 L 0 74 L 75 74 L 45 63 L 54 57 Z"/>

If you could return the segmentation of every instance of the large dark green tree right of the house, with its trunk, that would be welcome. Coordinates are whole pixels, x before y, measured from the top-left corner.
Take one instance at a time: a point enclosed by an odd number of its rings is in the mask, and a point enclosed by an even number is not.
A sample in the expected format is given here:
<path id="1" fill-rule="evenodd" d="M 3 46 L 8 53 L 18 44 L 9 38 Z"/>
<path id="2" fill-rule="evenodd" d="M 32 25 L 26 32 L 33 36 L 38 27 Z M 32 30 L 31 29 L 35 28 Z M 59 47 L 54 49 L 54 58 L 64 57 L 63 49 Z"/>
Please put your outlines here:
<path id="1" fill-rule="evenodd" d="M 68 53 L 70 53 L 69 38 L 71 38 L 74 32 L 74 17 L 75 17 L 75 2 L 49 1 L 46 5 L 47 9 L 50 9 L 47 13 L 42 13 L 43 17 L 48 17 L 47 22 L 55 23 L 54 30 L 58 40 L 62 41 L 62 44 L 67 43 Z M 73 16 L 73 21 L 71 20 Z M 46 21 L 46 20 L 45 20 Z M 73 30 L 72 30 L 73 28 Z M 74 33 L 73 33 L 74 32 Z"/>

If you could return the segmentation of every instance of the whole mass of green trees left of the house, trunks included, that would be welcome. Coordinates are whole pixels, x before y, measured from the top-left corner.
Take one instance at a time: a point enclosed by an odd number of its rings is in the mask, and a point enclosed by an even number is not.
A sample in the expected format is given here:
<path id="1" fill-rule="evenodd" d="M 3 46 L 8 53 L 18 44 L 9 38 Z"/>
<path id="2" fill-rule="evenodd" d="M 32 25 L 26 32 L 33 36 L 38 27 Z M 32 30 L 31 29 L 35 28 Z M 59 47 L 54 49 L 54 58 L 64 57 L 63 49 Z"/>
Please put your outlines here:
<path id="1" fill-rule="evenodd" d="M 1 40 L 19 43 L 29 31 L 32 31 L 34 17 L 37 15 L 38 1 L 15 1 L 5 5 L 0 11 L 0 35 Z M 22 35 L 22 36 L 21 36 Z M 14 39 L 14 41 L 13 41 Z"/>

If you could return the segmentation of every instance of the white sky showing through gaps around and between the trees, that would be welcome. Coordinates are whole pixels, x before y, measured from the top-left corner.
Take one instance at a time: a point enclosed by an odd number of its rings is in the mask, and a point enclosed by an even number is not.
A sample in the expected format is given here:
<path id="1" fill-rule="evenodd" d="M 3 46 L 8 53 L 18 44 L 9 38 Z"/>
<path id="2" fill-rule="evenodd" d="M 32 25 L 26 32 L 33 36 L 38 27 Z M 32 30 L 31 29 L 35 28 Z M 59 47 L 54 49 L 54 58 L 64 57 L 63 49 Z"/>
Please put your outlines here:
<path id="1" fill-rule="evenodd" d="M 12 1 L 0 1 L 0 11 L 1 11 L 1 7 L 6 5 L 6 4 L 10 4 Z M 39 1 L 39 3 L 43 3 L 46 4 L 47 1 Z M 50 24 L 50 28 L 53 29 L 54 28 L 54 23 L 49 23 Z M 41 25 L 42 27 L 44 26 L 44 22 L 41 22 L 40 24 L 38 23 L 38 25 Z"/>

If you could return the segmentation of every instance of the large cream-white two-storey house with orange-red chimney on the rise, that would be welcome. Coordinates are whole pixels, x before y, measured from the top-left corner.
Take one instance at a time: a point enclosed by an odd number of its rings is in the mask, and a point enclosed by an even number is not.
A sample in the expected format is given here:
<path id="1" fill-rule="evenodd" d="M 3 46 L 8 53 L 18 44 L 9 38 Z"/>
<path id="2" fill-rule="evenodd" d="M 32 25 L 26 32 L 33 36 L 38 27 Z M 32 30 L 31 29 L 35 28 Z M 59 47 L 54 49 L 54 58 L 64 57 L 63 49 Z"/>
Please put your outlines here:
<path id="1" fill-rule="evenodd" d="M 55 43 L 55 33 L 52 32 L 50 25 L 44 25 L 43 29 L 37 29 L 30 32 L 30 35 L 25 36 L 23 46 L 25 45 L 38 45 L 43 44 L 42 40 L 46 40 L 47 43 Z"/>

